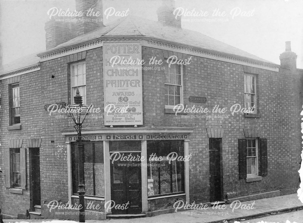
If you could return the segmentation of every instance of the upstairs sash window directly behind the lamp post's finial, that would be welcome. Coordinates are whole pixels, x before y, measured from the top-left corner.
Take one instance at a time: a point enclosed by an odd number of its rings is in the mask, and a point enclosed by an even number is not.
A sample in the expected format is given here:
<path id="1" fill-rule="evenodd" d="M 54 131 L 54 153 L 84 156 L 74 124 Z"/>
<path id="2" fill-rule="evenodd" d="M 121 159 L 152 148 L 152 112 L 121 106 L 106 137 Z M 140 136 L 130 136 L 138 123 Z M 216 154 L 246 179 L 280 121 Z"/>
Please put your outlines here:
<path id="1" fill-rule="evenodd" d="M 71 65 L 71 96 L 72 101 L 76 95 L 77 87 L 82 96 L 82 103 L 86 104 L 86 71 L 85 62 L 75 63 Z"/>

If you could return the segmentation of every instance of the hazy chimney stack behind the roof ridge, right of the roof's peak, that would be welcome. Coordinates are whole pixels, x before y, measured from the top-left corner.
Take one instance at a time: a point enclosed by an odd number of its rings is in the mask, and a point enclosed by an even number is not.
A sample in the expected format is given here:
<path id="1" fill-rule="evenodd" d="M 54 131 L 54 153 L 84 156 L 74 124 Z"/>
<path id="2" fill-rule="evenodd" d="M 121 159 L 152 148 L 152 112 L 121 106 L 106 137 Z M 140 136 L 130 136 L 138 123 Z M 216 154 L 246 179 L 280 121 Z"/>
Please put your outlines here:
<path id="1" fill-rule="evenodd" d="M 174 0 L 162 0 L 162 5 L 157 10 L 158 21 L 163 25 L 181 28 L 181 16 L 175 19 L 175 15 L 173 14 L 174 10 Z"/>

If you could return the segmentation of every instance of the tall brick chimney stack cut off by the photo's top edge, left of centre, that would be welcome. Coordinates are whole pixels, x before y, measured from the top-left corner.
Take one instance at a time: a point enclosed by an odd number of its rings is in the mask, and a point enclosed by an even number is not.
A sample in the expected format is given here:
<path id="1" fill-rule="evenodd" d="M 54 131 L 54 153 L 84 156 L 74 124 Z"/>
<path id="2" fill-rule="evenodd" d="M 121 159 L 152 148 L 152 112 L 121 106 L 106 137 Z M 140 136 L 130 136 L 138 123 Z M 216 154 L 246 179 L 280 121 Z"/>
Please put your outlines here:
<path id="1" fill-rule="evenodd" d="M 76 35 L 82 35 L 104 26 L 102 0 L 76 0 L 76 10 L 83 13 L 77 22 Z"/>

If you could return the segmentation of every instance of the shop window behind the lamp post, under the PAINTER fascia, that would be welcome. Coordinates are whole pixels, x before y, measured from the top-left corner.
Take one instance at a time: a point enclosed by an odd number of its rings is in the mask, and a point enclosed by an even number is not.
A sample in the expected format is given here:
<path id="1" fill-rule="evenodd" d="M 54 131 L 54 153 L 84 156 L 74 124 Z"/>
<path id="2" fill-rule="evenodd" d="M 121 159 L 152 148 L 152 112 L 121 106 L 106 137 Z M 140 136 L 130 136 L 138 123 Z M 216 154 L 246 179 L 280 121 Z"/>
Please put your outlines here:
<path id="1" fill-rule="evenodd" d="M 84 145 L 84 184 L 85 195 L 104 197 L 104 159 L 103 142 L 89 142 Z M 72 143 L 72 193 L 78 194 L 77 143 Z"/>

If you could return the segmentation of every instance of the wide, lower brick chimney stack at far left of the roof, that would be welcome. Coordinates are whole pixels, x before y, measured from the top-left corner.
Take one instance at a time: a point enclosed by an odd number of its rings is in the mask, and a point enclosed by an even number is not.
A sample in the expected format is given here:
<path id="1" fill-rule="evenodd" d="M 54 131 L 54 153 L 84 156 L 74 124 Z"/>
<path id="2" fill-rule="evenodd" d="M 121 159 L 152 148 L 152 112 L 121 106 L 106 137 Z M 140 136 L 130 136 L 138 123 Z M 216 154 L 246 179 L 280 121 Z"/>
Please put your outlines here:
<path id="1" fill-rule="evenodd" d="M 46 49 L 51 49 L 76 37 L 75 22 L 55 21 L 55 18 L 45 23 Z"/>

